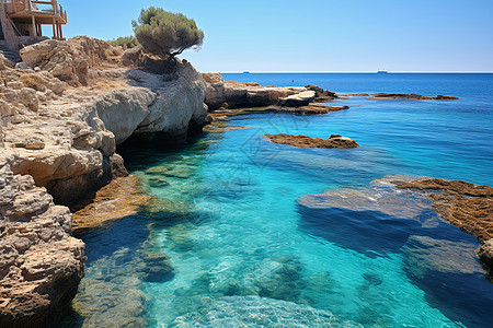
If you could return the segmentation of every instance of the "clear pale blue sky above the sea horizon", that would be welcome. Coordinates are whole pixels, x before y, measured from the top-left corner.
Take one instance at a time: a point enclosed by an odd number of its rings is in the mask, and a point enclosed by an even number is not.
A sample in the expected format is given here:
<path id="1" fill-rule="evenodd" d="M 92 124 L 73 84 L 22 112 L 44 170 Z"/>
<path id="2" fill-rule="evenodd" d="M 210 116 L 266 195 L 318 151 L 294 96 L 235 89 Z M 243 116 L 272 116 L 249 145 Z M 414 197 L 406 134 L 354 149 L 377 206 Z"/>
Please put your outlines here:
<path id="1" fill-rule="evenodd" d="M 493 72 L 492 0 L 59 0 L 66 36 L 131 34 L 140 9 L 195 19 L 200 71 Z"/>

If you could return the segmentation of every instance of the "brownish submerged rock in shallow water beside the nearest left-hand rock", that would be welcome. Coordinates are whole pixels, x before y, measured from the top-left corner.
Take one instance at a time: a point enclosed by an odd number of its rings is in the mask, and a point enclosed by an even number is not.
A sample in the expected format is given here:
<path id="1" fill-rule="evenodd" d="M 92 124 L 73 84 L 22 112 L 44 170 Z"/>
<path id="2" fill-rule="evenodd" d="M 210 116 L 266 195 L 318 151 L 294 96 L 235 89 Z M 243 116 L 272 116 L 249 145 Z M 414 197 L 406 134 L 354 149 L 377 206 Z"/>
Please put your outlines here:
<path id="1" fill-rule="evenodd" d="M 130 225 L 124 233 L 136 232 Z M 77 315 L 70 318 L 73 323 L 69 327 L 149 327 L 145 316 L 149 296 L 142 283 L 165 282 L 174 277 L 170 257 L 140 243 L 117 245 L 93 258 L 87 271 L 72 302 Z"/>

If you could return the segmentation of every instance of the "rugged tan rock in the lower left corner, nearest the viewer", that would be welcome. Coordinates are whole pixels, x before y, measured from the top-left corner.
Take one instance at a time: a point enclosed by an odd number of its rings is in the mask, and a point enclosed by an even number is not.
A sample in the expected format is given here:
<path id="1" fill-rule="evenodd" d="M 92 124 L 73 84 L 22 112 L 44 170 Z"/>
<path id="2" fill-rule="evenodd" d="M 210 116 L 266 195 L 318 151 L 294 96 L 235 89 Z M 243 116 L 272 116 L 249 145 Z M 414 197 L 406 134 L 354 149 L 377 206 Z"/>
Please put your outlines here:
<path id="1" fill-rule="evenodd" d="M 0 155 L 0 326 L 38 327 L 67 311 L 83 277 L 72 215 Z"/>

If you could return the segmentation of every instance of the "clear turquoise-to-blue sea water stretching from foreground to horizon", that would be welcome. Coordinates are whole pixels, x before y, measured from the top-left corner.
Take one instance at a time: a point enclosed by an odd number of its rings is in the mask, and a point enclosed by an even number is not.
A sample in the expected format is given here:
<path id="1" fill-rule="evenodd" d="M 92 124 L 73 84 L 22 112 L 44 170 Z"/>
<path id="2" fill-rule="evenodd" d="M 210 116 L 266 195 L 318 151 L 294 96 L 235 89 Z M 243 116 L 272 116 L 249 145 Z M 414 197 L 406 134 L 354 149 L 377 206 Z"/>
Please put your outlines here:
<path id="1" fill-rule="evenodd" d="M 330 115 L 238 116 L 229 125 L 246 129 L 205 132 L 177 149 L 122 149 L 162 203 L 80 236 L 87 276 L 71 326 L 491 326 L 493 284 L 474 257 L 475 238 L 440 221 L 420 196 L 369 183 L 404 174 L 493 186 L 493 75 L 225 79 L 460 99 L 352 98 L 334 105 L 356 107 Z M 305 150 L 261 137 L 282 132 L 340 133 L 360 148 Z M 146 172 L 156 166 L 158 183 Z M 325 190 L 351 199 L 347 189 L 389 199 L 388 208 L 297 201 L 317 202 L 307 195 Z"/>

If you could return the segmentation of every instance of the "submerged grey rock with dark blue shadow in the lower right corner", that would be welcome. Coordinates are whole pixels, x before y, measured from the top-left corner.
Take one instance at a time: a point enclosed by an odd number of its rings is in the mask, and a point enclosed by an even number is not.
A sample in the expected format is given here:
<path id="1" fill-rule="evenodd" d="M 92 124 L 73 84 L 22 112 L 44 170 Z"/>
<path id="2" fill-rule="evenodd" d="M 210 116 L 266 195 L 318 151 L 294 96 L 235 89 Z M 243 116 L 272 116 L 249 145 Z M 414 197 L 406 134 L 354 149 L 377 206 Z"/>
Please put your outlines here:
<path id="1" fill-rule="evenodd" d="M 475 238 L 458 227 L 448 225 L 448 229 L 466 238 L 450 242 L 411 236 L 403 248 L 404 271 L 425 291 L 429 305 L 451 320 L 467 327 L 489 327 L 493 323 L 493 284 L 484 279 L 475 257 Z"/>

